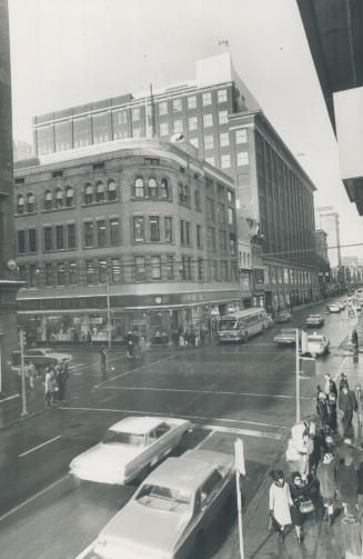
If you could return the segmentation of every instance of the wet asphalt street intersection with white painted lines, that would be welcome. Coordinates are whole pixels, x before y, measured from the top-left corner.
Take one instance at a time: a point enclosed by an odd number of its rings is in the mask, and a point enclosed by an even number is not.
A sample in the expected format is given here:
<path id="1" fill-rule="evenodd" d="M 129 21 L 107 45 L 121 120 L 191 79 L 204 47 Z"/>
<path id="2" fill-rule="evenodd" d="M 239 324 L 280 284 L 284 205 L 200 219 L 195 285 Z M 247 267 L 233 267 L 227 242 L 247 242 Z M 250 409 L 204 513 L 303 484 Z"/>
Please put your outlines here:
<path id="1" fill-rule="evenodd" d="M 281 327 L 300 326 L 312 311 L 325 315 L 325 305 L 296 311 L 294 322 Z M 301 380 L 302 415 L 314 409 L 315 379 L 325 371 L 339 375 L 346 359 L 341 349 L 352 327 L 346 312 L 325 318 L 322 331 L 331 339 L 331 353 L 316 362 L 303 361 L 307 379 Z M 238 346 L 155 348 L 142 363 L 128 363 L 124 352 L 112 352 L 107 379 L 100 375 L 97 352 L 74 351 L 71 401 L 0 432 L 1 558 L 87 557 L 135 485 L 75 483 L 69 463 L 110 425 L 131 415 L 190 419 L 194 429 L 177 453 L 196 446 L 232 452 L 241 437 L 248 507 L 295 420 L 295 351 L 273 343 L 279 330 L 275 326 Z M 234 503 L 225 518 L 224 529 L 211 538 L 210 558 L 218 557 L 231 530 Z"/>

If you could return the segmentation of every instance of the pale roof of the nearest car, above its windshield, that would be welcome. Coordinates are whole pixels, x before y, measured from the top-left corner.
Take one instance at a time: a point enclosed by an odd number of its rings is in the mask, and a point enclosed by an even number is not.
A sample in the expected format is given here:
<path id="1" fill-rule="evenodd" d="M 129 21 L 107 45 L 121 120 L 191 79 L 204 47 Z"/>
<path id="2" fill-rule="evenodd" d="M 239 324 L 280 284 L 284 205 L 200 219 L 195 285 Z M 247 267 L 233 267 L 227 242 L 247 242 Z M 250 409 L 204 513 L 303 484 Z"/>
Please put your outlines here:
<path id="1" fill-rule="evenodd" d="M 191 458 L 168 458 L 148 478 L 145 483 L 196 490 L 215 470 L 204 461 Z"/>

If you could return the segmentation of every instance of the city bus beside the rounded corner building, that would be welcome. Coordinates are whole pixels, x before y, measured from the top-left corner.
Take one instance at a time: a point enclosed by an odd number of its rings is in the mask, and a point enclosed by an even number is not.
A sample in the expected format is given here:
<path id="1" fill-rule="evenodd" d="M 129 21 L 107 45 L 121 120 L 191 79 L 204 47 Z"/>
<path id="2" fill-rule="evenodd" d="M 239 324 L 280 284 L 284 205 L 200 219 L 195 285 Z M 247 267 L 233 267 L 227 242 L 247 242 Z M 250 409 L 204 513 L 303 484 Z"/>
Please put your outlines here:
<path id="1" fill-rule="evenodd" d="M 218 340 L 220 342 L 248 341 L 251 336 L 262 332 L 266 323 L 266 311 L 261 307 L 225 315 L 218 321 Z"/>

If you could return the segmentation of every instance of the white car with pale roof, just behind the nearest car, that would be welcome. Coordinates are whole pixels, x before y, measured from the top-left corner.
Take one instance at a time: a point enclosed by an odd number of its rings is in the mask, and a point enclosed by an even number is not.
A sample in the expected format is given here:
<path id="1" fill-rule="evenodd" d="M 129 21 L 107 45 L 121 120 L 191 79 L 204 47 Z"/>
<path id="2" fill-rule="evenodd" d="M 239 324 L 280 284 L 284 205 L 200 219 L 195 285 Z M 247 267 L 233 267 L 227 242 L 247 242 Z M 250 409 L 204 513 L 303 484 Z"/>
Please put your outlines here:
<path id="1" fill-rule="evenodd" d="M 123 485 L 144 475 L 180 443 L 184 419 L 129 417 L 111 426 L 102 442 L 75 457 L 70 473 L 99 483 Z"/>

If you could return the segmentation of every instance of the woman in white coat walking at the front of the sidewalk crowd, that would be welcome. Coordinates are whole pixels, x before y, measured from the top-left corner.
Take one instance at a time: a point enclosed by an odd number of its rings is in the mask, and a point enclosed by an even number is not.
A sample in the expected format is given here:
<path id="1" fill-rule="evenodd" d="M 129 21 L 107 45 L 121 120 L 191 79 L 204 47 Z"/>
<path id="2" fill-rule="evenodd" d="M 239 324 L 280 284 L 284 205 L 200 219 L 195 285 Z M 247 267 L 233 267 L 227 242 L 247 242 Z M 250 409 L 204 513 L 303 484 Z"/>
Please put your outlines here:
<path id="1" fill-rule="evenodd" d="M 293 500 L 283 472 L 274 470 L 271 473 L 273 483 L 270 487 L 270 517 L 278 532 L 279 540 L 282 542 L 285 537 L 285 527 L 292 522 L 290 507 L 293 505 Z"/>

